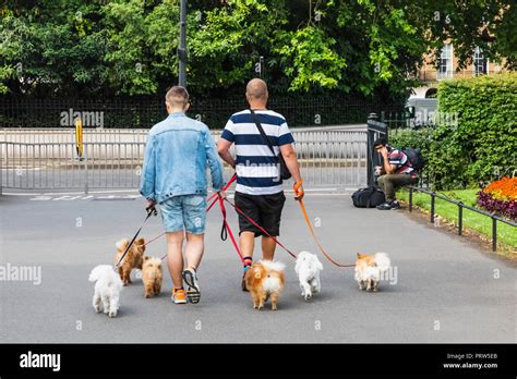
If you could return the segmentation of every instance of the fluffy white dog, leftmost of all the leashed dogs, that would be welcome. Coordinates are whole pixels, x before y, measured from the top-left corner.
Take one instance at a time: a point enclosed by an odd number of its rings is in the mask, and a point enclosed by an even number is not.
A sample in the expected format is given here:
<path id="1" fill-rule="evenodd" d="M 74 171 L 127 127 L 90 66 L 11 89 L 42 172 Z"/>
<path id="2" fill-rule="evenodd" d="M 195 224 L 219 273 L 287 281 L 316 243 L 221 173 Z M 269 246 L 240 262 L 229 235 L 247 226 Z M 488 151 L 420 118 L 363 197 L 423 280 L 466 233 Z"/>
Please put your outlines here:
<path id="1" fill-rule="evenodd" d="M 96 313 L 101 310 L 109 317 L 117 317 L 120 304 L 120 291 L 122 291 L 122 280 L 109 265 L 99 265 L 89 273 L 89 281 L 95 283 L 94 308 Z"/>

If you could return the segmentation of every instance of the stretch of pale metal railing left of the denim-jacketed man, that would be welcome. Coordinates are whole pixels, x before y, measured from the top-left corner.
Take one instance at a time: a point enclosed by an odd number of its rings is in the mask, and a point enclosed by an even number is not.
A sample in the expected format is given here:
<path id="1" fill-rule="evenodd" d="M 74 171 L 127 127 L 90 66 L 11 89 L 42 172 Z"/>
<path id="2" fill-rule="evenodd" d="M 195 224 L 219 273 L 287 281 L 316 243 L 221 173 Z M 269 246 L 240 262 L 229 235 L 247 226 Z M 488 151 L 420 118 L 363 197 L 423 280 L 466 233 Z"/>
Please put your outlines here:
<path id="1" fill-rule="evenodd" d="M 143 143 L 0 143 L 0 188 L 135 188 Z"/>

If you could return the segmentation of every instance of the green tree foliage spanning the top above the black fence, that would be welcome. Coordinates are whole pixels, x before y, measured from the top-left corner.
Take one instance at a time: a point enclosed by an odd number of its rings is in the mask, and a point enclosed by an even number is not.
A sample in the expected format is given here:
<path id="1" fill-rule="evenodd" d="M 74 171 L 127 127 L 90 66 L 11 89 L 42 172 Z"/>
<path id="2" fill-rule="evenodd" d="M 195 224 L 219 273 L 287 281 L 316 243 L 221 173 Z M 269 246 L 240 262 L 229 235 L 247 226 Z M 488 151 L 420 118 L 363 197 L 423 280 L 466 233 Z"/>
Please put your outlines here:
<path id="1" fill-rule="evenodd" d="M 147 95 L 178 77 L 180 0 L 17 0 L 0 8 L 0 93 Z M 516 66 L 509 0 L 190 0 L 188 81 L 224 94 L 256 76 L 275 91 L 400 97 L 424 53 L 450 40 Z"/>

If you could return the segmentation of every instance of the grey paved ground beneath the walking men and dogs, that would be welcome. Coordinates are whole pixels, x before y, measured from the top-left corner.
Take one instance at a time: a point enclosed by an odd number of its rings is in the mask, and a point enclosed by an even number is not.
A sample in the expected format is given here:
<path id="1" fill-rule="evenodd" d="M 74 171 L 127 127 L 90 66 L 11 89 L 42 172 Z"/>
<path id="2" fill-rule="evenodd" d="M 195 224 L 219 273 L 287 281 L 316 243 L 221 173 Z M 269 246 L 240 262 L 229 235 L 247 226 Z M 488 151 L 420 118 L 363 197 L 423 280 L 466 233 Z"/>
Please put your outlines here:
<path id="1" fill-rule="evenodd" d="M 240 261 L 218 237 L 217 211 L 208 216 L 206 256 L 197 305 L 169 299 L 170 279 L 145 299 L 136 280 L 121 296 L 116 319 L 94 313 L 89 270 L 110 264 L 113 244 L 142 219 L 142 199 L 31 200 L 0 197 L 2 267 L 40 266 L 41 283 L 0 282 L 1 342 L 516 342 L 516 269 L 472 245 L 405 213 L 356 209 L 349 196 L 306 197 L 324 245 L 339 260 L 356 252 L 385 250 L 396 271 L 380 293 L 360 292 L 352 269 L 324 261 L 323 293 L 299 293 L 293 261 L 278 311 L 253 310 L 240 290 Z M 215 209 L 217 210 L 217 209 Z M 81 218 L 81 219 L 79 219 Z M 82 227 L 76 227 L 82 221 Z M 236 224 L 235 216 L 230 218 Z M 144 236 L 161 231 L 152 219 Z M 406 235 L 400 237 L 400 235 Z M 300 210 L 288 201 L 281 241 L 314 250 Z M 160 256 L 164 241 L 149 245 Z M 498 278 L 494 278 L 498 277 Z M 435 330 L 438 329 L 438 330 Z"/>

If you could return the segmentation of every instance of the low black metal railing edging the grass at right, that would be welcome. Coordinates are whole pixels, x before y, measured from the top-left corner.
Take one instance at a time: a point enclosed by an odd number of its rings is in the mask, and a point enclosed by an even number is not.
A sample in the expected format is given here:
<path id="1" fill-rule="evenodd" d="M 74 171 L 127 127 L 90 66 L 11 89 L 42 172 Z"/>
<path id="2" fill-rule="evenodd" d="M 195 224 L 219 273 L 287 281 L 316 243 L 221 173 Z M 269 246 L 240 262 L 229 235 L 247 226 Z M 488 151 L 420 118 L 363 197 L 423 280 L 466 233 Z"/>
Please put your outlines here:
<path id="1" fill-rule="evenodd" d="M 484 211 L 482 209 L 478 209 L 474 207 L 470 207 L 462 201 L 452 199 L 447 196 L 444 196 L 442 194 L 437 194 L 434 191 L 425 190 L 425 188 L 420 188 L 420 187 L 414 187 L 414 186 L 408 186 L 409 188 L 409 211 L 412 212 L 413 210 L 413 191 L 421 192 L 424 194 L 428 194 L 431 196 L 431 210 L 430 210 L 430 222 L 434 223 L 434 217 L 435 217 L 435 200 L 436 198 L 440 198 L 442 200 L 445 200 L 450 204 L 456 204 L 458 206 L 458 235 L 462 234 L 462 229 L 464 229 L 464 208 L 471 210 L 473 212 L 477 212 L 479 215 L 483 215 L 485 217 L 490 217 L 492 219 L 492 250 L 496 252 L 497 250 L 497 221 L 506 223 L 512 227 L 517 227 L 516 222 L 513 222 L 510 220 L 504 219 L 495 213 L 490 213 L 488 211 Z"/>

